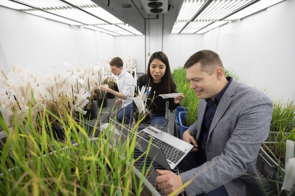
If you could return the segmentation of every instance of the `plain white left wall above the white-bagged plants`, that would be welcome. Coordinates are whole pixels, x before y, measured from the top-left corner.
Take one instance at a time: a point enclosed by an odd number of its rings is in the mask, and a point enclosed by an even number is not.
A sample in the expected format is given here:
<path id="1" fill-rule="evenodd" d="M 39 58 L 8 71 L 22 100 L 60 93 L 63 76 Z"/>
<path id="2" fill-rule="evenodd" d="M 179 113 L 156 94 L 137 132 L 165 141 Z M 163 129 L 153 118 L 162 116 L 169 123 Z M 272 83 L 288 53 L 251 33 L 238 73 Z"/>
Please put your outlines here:
<path id="1" fill-rule="evenodd" d="M 7 20 L 9 19 L 9 20 Z M 0 42 L 8 65 L 49 73 L 52 66 L 105 62 L 114 51 L 112 35 L 0 7 Z"/>

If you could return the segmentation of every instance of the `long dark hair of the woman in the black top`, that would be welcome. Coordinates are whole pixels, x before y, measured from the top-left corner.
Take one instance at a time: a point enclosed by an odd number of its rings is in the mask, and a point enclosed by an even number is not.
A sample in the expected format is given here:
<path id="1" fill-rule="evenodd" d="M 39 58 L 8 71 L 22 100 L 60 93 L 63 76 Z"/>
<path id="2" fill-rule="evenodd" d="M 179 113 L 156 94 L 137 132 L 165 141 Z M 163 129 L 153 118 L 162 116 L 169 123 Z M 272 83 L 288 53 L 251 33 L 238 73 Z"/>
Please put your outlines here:
<path id="1" fill-rule="evenodd" d="M 171 70 L 170 70 L 170 64 L 169 64 L 168 57 L 166 56 L 166 54 L 164 52 L 161 52 L 161 51 L 155 52 L 150 56 L 149 61 L 148 61 L 148 70 L 147 70 L 147 73 L 143 77 L 143 82 L 145 82 L 145 85 L 148 85 L 148 79 L 150 79 L 149 86 L 151 87 L 151 92 L 153 92 L 153 78 L 150 74 L 150 64 L 155 58 L 159 59 L 160 61 L 162 61 L 166 65 L 166 70 L 165 70 L 165 73 L 162 77 L 163 85 L 161 86 L 159 94 L 168 94 L 168 93 L 175 92 L 176 85 L 172 79 L 172 74 L 171 74 Z"/>

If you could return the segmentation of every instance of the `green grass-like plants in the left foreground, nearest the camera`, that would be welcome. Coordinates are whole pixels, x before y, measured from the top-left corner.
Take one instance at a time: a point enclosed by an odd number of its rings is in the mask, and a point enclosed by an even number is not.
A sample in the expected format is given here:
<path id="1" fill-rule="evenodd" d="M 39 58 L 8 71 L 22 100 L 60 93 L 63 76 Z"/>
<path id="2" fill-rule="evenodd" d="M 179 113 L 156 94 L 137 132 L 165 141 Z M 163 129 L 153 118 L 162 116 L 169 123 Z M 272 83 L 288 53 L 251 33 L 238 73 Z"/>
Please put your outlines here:
<path id="1" fill-rule="evenodd" d="M 22 123 L 12 119 L 10 127 L 0 118 L 7 134 L 0 149 L 0 195 L 141 195 L 149 168 L 140 179 L 136 177 L 135 137 L 114 148 L 109 129 L 106 137 L 100 134 L 89 139 L 84 123 L 66 113 L 64 123 L 46 109 L 39 113 L 41 129 L 36 130 L 30 111 Z M 49 125 L 52 117 L 63 125 L 64 141 L 54 139 Z"/>

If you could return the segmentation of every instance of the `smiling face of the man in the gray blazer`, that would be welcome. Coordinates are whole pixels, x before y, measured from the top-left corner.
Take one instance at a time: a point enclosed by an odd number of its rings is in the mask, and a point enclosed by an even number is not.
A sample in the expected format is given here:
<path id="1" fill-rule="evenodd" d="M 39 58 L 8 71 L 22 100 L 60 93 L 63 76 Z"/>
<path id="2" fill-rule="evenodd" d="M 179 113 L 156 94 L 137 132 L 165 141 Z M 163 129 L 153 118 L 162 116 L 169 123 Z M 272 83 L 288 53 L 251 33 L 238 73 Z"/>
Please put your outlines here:
<path id="1" fill-rule="evenodd" d="M 196 63 L 186 69 L 186 79 L 190 81 L 190 88 L 194 89 L 199 98 L 214 100 L 218 92 L 217 75 L 201 72 L 201 63 Z"/>

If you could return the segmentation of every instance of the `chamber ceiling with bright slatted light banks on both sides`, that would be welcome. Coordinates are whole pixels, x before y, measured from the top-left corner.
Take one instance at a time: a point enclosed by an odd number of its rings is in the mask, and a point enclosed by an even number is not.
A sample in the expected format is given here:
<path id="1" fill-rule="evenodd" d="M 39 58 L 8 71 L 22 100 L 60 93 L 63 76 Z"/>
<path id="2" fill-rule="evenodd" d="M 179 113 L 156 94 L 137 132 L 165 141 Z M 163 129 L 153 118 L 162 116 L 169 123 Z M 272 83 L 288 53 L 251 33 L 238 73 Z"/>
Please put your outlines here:
<path id="1" fill-rule="evenodd" d="M 174 24 L 172 34 L 203 34 L 281 1 L 284 0 L 0 0 L 0 6 L 111 35 L 143 35 L 149 15 L 173 12 L 167 17 Z"/>

